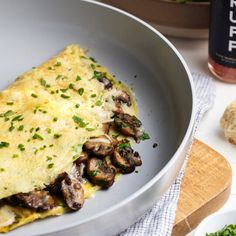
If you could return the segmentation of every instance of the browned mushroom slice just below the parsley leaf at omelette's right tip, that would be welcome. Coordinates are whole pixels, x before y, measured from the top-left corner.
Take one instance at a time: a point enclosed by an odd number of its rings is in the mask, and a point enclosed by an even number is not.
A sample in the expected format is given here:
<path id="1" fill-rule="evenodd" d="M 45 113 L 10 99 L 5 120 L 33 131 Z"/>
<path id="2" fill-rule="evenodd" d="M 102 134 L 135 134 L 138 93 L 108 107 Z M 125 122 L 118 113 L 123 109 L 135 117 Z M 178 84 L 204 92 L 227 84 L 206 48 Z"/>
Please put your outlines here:
<path id="1" fill-rule="evenodd" d="M 138 152 L 134 152 L 127 142 L 121 143 L 116 147 L 112 163 L 124 174 L 131 173 L 135 170 L 135 166 L 142 165 Z"/>

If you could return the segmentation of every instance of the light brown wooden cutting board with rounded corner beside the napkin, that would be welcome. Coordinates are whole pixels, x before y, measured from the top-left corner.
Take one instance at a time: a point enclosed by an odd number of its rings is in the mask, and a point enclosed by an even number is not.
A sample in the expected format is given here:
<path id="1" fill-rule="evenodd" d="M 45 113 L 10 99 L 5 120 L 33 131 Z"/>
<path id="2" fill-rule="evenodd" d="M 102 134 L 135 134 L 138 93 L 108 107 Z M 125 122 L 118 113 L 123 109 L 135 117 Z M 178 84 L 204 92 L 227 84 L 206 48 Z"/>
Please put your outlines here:
<path id="1" fill-rule="evenodd" d="M 218 152 L 195 140 L 189 156 L 172 236 L 184 236 L 206 216 L 224 205 L 230 195 L 232 170 Z"/>

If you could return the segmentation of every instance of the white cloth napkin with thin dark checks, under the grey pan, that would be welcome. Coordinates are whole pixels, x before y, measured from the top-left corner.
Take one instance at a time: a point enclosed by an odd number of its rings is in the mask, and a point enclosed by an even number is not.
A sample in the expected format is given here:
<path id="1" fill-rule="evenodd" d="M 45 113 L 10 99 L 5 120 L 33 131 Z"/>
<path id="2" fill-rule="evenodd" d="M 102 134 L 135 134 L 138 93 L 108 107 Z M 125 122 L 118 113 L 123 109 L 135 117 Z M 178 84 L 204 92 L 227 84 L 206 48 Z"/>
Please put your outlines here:
<path id="1" fill-rule="evenodd" d="M 196 134 L 198 124 L 204 113 L 214 102 L 214 82 L 206 75 L 193 73 L 196 91 L 196 114 L 192 138 Z M 192 139 L 193 140 L 193 139 Z M 179 198 L 181 180 L 184 175 L 188 155 L 175 182 L 164 196 L 142 218 L 123 231 L 120 236 L 170 236 L 175 220 L 175 213 Z"/>

